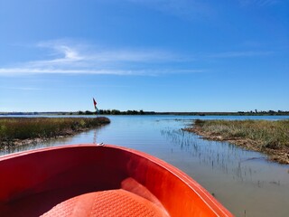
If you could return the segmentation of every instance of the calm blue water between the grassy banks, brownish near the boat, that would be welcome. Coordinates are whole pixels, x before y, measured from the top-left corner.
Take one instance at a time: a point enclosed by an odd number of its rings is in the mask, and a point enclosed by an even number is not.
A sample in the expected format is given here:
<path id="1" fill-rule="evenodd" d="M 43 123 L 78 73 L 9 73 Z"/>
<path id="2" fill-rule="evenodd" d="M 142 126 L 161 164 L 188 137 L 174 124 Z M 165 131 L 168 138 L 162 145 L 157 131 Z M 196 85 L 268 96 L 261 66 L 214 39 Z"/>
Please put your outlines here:
<path id="1" fill-rule="evenodd" d="M 157 156 L 182 169 L 236 216 L 289 216 L 289 165 L 266 156 L 214 142 L 182 131 L 189 116 L 109 116 L 106 127 L 74 137 L 5 150 L 0 155 L 43 146 L 105 143 L 126 146 Z M 280 119 L 289 117 L 197 117 Z"/>

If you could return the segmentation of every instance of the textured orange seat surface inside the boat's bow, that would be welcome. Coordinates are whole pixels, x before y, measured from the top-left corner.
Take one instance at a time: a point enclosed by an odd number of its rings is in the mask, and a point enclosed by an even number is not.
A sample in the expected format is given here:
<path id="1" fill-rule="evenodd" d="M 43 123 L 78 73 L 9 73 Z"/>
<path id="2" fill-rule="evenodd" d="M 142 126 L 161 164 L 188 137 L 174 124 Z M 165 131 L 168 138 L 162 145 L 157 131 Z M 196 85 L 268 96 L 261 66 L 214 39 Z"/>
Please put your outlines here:
<path id="1" fill-rule="evenodd" d="M 124 189 L 84 193 L 42 214 L 48 216 L 168 216 L 159 205 Z"/>

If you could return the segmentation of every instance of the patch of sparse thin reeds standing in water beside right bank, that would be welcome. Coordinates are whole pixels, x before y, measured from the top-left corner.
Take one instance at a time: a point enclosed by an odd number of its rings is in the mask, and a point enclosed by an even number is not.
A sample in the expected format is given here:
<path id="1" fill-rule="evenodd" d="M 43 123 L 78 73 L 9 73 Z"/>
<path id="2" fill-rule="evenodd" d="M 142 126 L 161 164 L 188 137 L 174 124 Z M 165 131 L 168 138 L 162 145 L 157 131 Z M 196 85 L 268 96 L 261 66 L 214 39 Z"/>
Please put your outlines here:
<path id="1" fill-rule="evenodd" d="M 199 166 L 221 173 L 226 179 L 229 176 L 232 181 L 251 183 L 258 188 L 266 187 L 267 184 L 280 186 L 283 183 L 275 176 L 263 175 L 262 164 L 268 162 L 262 154 L 227 142 L 204 140 L 182 129 L 165 128 L 161 130 L 161 135 L 173 146 L 189 153 L 193 158 L 191 163 L 197 161 Z"/>

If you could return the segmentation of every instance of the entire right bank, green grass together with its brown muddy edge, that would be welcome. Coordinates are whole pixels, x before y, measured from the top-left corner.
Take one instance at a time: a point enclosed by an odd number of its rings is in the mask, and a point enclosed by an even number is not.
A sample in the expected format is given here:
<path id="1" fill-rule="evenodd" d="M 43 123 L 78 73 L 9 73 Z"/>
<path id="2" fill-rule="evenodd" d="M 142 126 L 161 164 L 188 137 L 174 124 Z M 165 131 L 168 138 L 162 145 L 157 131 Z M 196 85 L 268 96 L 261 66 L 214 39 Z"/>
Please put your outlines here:
<path id="1" fill-rule="evenodd" d="M 228 141 L 250 150 L 263 152 L 271 160 L 289 164 L 289 119 L 200 120 L 186 130 L 204 138 Z"/>

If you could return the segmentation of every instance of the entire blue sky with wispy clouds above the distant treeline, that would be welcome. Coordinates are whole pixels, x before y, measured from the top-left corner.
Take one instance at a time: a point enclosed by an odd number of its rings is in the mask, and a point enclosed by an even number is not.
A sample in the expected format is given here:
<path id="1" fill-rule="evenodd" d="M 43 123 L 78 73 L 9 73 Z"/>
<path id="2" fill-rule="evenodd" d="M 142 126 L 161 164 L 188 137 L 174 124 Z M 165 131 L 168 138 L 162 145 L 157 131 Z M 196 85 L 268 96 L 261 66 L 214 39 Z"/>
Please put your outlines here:
<path id="1" fill-rule="evenodd" d="M 0 111 L 289 110 L 289 1 L 0 0 Z"/>

